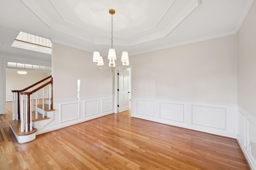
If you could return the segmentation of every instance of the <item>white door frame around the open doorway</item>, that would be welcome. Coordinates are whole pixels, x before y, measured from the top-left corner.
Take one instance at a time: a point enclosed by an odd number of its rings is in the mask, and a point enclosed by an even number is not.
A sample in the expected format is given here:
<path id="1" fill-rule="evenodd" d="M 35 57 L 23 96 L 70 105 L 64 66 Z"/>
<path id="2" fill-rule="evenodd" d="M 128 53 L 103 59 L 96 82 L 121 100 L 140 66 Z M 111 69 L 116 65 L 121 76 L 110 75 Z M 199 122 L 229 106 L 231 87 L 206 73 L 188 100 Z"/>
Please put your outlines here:
<path id="1" fill-rule="evenodd" d="M 119 69 L 119 67 L 116 67 Z M 120 67 L 120 69 L 123 67 Z M 131 68 L 131 77 L 130 77 L 130 84 L 131 84 L 131 91 L 132 91 L 132 65 L 128 65 L 127 68 Z M 118 113 L 118 108 L 117 108 L 117 99 L 118 99 L 118 76 L 117 76 L 117 70 L 114 69 L 114 113 Z M 131 117 L 132 117 L 132 92 L 131 93 Z"/>

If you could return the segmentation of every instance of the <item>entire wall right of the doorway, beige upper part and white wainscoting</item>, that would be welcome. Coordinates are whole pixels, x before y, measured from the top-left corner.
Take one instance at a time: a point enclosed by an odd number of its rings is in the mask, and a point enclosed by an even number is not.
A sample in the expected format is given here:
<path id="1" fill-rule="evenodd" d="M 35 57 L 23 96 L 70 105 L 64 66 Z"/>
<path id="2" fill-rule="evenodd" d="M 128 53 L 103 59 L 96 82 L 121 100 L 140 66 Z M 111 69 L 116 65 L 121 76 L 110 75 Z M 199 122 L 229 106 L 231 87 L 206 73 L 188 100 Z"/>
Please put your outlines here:
<path id="1" fill-rule="evenodd" d="M 132 116 L 236 138 L 237 35 L 130 57 Z"/>

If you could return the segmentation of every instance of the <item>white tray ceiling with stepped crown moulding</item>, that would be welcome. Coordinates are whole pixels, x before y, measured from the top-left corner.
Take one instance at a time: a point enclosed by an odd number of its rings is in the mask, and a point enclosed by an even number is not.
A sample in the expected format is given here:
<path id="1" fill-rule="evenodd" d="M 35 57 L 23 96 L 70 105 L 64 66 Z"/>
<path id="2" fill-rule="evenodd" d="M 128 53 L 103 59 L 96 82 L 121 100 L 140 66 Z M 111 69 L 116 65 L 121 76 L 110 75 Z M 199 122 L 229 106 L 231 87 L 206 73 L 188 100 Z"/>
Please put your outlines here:
<path id="1" fill-rule="evenodd" d="M 0 0 L 0 52 L 50 55 L 10 47 L 20 31 L 120 57 L 236 34 L 254 0 Z"/>

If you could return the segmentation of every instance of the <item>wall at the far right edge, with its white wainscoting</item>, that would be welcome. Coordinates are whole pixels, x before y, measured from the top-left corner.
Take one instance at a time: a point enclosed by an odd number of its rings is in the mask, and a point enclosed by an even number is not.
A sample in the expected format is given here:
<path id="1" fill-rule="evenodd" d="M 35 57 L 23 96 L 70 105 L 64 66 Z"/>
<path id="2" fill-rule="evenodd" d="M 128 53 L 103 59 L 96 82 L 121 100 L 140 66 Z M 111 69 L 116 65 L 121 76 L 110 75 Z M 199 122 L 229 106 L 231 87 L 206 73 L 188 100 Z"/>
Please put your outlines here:
<path id="1" fill-rule="evenodd" d="M 256 2 L 238 32 L 238 142 L 256 170 Z"/>

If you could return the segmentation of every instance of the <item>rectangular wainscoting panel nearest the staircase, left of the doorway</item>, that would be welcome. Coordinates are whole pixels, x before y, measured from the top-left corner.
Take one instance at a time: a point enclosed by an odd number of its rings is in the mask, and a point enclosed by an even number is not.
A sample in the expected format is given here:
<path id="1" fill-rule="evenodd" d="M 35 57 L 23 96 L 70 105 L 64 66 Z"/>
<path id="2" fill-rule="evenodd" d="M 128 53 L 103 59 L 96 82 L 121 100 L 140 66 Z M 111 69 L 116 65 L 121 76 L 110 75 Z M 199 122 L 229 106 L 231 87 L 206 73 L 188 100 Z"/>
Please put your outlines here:
<path id="1" fill-rule="evenodd" d="M 60 104 L 60 123 L 79 118 L 79 102 Z"/>

